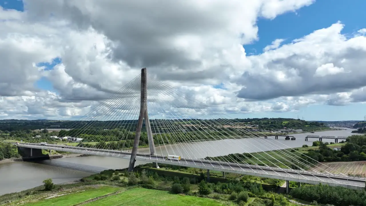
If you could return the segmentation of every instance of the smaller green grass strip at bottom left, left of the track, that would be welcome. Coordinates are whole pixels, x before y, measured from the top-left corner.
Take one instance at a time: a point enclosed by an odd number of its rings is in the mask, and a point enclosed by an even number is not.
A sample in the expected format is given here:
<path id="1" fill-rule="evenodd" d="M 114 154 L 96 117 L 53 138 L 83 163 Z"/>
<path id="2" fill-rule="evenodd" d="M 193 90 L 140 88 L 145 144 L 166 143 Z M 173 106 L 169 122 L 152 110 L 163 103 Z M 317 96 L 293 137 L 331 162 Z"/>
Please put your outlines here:
<path id="1" fill-rule="evenodd" d="M 42 199 L 37 202 L 27 203 L 27 206 L 71 206 L 85 202 L 89 199 L 107 195 L 112 192 L 121 190 L 118 187 L 103 186 L 98 188 L 87 188 L 85 191 L 81 189 L 79 192 L 71 192 L 70 194 L 58 196 L 55 198 Z M 108 204 L 107 204 L 108 205 Z"/>

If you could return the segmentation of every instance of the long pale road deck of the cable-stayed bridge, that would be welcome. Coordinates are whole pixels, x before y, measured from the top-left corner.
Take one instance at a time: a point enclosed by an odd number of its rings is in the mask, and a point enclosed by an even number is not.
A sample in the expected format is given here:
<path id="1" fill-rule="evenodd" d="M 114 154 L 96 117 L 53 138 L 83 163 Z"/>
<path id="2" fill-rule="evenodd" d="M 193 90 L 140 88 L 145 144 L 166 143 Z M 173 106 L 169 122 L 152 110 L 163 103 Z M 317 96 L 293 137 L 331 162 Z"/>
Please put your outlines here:
<path id="1" fill-rule="evenodd" d="M 15 143 L 13 143 L 15 144 Z M 57 144 L 40 145 L 37 143 L 19 143 L 18 147 L 37 148 L 44 150 L 67 151 L 74 153 L 101 155 L 108 157 L 118 157 L 130 159 L 131 152 L 105 150 L 96 148 L 83 148 L 75 146 L 64 146 Z M 209 169 L 221 172 L 230 172 L 238 174 L 248 174 L 259 177 L 268 177 L 280 180 L 296 181 L 309 184 L 327 184 L 330 186 L 341 186 L 355 190 L 362 190 L 365 188 L 365 178 L 338 175 L 338 174 L 324 174 L 308 172 L 304 170 L 292 170 L 275 167 L 245 165 L 232 162 L 216 162 L 203 159 L 181 158 L 180 161 L 168 160 L 162 155 L 150 155 L 138 153 L 136 160 L 146 162 L 156 162 L 169 165 L 186 166 L 192 168 Z"/>

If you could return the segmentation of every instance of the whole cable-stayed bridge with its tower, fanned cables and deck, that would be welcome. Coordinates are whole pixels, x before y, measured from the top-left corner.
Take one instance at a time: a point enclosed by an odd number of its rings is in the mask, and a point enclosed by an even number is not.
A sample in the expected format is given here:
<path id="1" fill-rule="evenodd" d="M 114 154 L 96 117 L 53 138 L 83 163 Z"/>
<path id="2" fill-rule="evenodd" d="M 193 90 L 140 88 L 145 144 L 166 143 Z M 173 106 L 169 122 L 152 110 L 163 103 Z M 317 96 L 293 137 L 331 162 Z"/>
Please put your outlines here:
<path id="1" fill-rule="evenodd" d="M 71 130 L 61 131 L 59 136 L 68 141 L 18 143 L 18 149 L 29 156 L 45 149 L 127 158 L 130 171 L 141 160 L 156 166 L 164 163 L 282 179 L 287 185 L 297 181 L 358 190 L 365 187 L 366 179 L 361 177 L 336 170 L 333 173 L 337 174 L 318 172 L 321 163 L 299 151 L 281 150 L 288 147 L 272 137 L 258 137 L 253 128 L 221 111 L 219 106 L 208 107 L 196 100 L 184 88 L 175 89 L 147 76 L 144 68 L 141 75 L 71 125 Z M 209 142 L 215 144 L 205 144 Z M 230 151 L 234 145 L 240 153 L 202 158 L 208 151 Z M 139 152 L 139 147 L 148 152 Z"/>

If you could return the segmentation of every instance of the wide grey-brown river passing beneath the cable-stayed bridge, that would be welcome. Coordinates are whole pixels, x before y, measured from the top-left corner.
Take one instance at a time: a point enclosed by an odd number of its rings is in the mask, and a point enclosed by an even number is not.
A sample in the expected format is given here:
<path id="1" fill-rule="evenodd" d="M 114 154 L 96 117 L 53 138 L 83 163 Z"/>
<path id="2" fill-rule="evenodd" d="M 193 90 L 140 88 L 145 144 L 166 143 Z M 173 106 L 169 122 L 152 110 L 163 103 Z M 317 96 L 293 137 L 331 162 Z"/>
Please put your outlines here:
<path id="1" fill-rule="evenodd" d="M 307 135 L 319 136 L 351 136 L 353 129 L 333 130 L 315 133 L 300 133 L 293 136 L 296 140 L 285 140 L 279 137 L 276 141 L 274 137 L 268 139 L 248 138 L 248 139 L 224 139 L 217 141 L 203 141 L 191 144 L 177 144 L 172 146 L 156 147 L 157 154 L 179 154 L 183 157 L 203 158 L 227 155 L 236 152 L 258 152 L 281 148 L 301 147 L 303 144 L 309 146 L 318 139 L 310 138 L 305 141 Z M 273 138 L 273 139 L 272 139 Z M 334 141 L 323 139 L 323 141 Z M 139 152 L 147 152 L 141 150 Z M 19 192 L 29 188 L 37 187 L 47 178 L 52 178 L 54 183 L 65 183 L 79 180 L 82 177 L 93 173 L 101 172 L 105 169 L 122 169 L 128 167 L 128 159 L 88 156 L 88 157 L 68 157 L 51 159 L 40 162 L 8 162 L 0 163 L 0 195 Z M 136 162 L 136 165 L 146 162 Z"/>

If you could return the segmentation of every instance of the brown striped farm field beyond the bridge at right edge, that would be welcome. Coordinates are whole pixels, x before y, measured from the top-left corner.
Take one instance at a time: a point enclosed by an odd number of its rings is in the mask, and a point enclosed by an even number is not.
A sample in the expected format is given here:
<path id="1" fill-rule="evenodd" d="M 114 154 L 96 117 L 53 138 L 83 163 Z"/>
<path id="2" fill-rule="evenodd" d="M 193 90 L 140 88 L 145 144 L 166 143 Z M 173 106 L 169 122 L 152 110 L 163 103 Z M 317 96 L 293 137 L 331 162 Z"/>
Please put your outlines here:
<path id="1" fill-rule="evenodd" d="M 348 174 L 352 176 L 366 177 L 366 161 L 356 162 L 323 162 L 314 168 L 319 172 L 329 172 L 333 174 Z"/>

